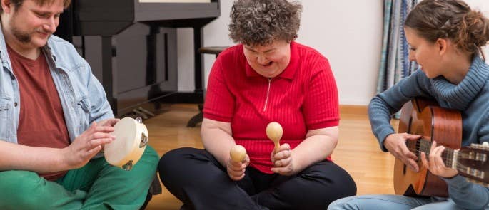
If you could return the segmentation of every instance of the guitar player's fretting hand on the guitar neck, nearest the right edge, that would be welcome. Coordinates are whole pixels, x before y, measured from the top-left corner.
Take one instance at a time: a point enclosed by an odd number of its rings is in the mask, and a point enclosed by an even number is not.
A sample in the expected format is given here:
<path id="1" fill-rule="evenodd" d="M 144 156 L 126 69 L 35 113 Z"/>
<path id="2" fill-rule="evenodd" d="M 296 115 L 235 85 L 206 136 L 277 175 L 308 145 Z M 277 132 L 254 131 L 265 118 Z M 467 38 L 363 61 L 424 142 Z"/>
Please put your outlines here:
<path id="1" fill-rule="evenodd" d="M 421 162 L 423 165 L 430 170 L 432 174 L 443 178 L 455 177 L 458 172 L 456 169 L 448 168 L 445 166 L 441 154 L 445 151 L 445 147 L 436 145 L 436 142 L 433 141 L 431 145 L 430 154 L 428 155 L 428 159 L 426 159 L 425 152 L 421 152 Z"/>

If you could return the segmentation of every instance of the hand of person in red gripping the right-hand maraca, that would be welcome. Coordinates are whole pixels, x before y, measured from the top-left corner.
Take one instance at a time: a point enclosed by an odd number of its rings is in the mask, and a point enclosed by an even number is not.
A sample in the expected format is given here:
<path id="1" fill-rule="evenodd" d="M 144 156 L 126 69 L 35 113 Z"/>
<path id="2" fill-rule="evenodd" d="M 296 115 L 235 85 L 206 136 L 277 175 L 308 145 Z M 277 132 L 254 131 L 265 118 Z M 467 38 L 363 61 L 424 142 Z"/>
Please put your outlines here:
<path id="1" fill-rule="evenodd" d="M 273 162 L 272 172 L 284 176 L 290 176 L 296 173 L 293 165 L 291 146 L 287 143 L 278 147 L 277 151 L 273 150 L 271 160 Z"/>

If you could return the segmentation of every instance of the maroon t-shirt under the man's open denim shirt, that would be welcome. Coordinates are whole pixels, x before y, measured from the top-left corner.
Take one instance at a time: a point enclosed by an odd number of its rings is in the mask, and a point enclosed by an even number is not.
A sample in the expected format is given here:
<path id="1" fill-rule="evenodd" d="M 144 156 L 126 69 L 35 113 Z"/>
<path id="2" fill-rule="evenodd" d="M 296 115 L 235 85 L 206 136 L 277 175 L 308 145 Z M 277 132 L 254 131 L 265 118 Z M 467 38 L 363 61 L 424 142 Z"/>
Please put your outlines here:
<path id="1" fill-rule="evenodd" d="M 19 81 L 20 116 L 17 141 L 31 147 L 64 148 L 69 135 L 63 107 L 44 53 L 31 60 L 7 46 L 14 74 Z M 63 177 L 64 172 L 39 174 L 48 180 Z"/>

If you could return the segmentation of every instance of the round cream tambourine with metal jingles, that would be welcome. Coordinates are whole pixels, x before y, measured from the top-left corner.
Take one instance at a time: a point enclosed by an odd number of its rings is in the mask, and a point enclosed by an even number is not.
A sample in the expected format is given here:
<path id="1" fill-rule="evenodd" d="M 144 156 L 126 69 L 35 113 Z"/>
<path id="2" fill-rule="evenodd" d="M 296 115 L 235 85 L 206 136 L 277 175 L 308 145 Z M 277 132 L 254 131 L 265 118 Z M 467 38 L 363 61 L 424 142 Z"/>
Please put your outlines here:
<path id="1" fill-rule="evenodd" d="M 109 164 L 120 167 L 126 171 L 143 155 L 148 144 L 148 130 L 140 117 L 134 120 L 124 117 L 114 125 L 116 140 L 104 146 L 104 156 Z"/>

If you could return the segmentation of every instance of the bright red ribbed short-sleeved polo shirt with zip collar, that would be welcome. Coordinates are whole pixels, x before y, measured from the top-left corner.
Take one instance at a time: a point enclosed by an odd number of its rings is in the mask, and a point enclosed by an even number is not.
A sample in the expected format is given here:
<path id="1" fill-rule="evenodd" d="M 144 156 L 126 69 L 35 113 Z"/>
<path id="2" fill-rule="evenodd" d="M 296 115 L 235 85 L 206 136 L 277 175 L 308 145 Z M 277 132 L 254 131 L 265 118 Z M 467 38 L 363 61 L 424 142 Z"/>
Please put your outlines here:
<path id="1" fill-rule="evenodd" d="M 264 78 L 248 64 L 243 45 L 219 54 L 209 75 L 203 116 L 231 122 L 236 144 L 250 165 L 271 174 L 273 142 L 266 125 L 283 127 L 280 143 L 295 148 L 308 130 L 337 126 L 338 90 L 328 59 L 318 51 L 291 43 L 291 61 L 276 78 Z"/>

